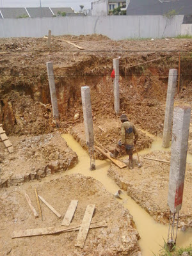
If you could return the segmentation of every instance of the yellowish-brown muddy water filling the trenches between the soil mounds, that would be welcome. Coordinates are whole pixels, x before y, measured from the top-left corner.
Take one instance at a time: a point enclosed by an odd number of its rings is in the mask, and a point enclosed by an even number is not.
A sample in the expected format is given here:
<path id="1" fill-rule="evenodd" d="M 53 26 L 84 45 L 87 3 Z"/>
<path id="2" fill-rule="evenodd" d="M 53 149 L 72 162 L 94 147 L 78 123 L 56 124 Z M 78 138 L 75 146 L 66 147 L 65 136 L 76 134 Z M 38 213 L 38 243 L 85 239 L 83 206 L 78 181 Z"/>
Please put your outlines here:
<path id="1" fill-rule="evenodd" d="M 76 140 L 70 134 L 63 134 L 62 137 L 67 141 L 67 144 L 72 150 L 77 153 L 79 157 L 79 163 L 72 168 L 72 170 L 68 170 L 65 174 L 70 173 L 81 173 L 85 176 L 93 177 L 99 180 L 105 188 L 112 194 L 120 189 L 116 183 L 108 177 L 108 168 L 110 165 L 109 160 L 96 161 L 97 170 L 91 172 L 89 170 L 90 167 L 90 158 L 85 150 L 77 143 Z M 152 145 L 150 150 L 159 150 L 156 143 Z M 131 197 L 127 196 L 125 191 L 122 195 L 123 200 L 117 199 L 121 204 L 124 205 L 129 212 L 132 214 L 134 218 L 134 222 L 136 223 L 136 228 L 140 234 L 140 246 L 141 253 L 143 256 L 153 255 L 152 252 L 158 253 L 161 250 L 161 246 L 163 246 L 164 240 L 166 241 L 168 236 L 168 225 L 161 225 L 154 221 L 154 219 L 143 210 Z M 186 246 L 189 245 L 192 241 L 192 230 L 187 232 L 179 231 L 177 236 L 177 246 Z"/>

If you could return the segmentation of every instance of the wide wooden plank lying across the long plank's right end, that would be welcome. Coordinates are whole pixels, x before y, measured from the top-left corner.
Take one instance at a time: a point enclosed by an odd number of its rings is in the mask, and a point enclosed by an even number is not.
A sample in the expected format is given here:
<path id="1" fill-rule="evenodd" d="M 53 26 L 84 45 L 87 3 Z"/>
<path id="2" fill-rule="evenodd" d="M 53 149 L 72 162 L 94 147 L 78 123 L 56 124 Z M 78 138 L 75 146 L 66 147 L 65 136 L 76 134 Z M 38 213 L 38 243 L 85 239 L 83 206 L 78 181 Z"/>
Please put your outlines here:
<path id="1" fill-rule="evenodd" d="M 88 235 L 88 231 L 90 228 L 90 224 L 92 222 L 92 216 L 93 216 L 94 210 L 95 210 L 95 204 L 87 205 L 86 211 L 84 213 L 83 221 L 82 221 L 81 227 L 79 229 L 76 246 L 79 246 L 82 249 L 84 247 L 84 242 L 86 240 L 86 236 Z"/>

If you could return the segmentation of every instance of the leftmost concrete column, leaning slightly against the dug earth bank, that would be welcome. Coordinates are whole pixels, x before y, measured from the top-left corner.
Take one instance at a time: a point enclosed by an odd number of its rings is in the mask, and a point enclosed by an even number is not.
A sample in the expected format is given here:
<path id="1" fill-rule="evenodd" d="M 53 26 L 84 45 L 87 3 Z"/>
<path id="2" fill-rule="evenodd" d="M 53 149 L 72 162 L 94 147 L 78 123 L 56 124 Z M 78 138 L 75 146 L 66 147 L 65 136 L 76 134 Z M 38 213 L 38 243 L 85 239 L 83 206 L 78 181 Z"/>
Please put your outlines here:
<path id="1" fill-rule="evenodd" d="M 56 88 L 54 83 L 54 73 L 53 73 L 52 62 L 47 62 L 47 74 L 49 79 L 49 90 L 51 94 L 52 115 L 54 116 L 54 118 L 58 118 L 59 117 L 58 100 L 56 97 Z"/>

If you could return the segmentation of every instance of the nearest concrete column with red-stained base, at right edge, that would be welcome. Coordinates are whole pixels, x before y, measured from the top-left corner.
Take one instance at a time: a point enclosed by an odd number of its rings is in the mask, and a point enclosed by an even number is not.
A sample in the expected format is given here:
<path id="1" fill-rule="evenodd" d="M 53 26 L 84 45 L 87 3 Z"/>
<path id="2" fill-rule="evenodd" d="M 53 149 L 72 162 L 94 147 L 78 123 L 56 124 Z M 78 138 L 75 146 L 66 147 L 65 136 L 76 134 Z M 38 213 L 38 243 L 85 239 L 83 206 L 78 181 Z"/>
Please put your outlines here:
<path id="1" fill-rule="evenodd" d="M 179 212 L 182 206 L 190 118 L 191 108 L 188 106 L 175 107 L 168 189 L 168 205 L 172 213 Z"/>

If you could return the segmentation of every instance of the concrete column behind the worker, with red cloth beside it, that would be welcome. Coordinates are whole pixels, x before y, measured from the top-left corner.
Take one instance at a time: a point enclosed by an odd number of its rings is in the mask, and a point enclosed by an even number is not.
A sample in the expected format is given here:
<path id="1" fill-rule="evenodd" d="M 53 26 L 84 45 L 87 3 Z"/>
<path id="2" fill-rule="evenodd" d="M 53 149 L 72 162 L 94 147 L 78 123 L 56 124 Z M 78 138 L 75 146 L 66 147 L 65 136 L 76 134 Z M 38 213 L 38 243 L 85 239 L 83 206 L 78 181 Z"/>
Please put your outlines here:
<path id="1" fill-rule="evenodd" d="M 120 111 L 120 100 L 119 100 L 119 60 L 113 59 L 113 69 L 115 70 L 115 79 L 114 79 L 114 109 L 115 113 L 118 115 Z"/>

